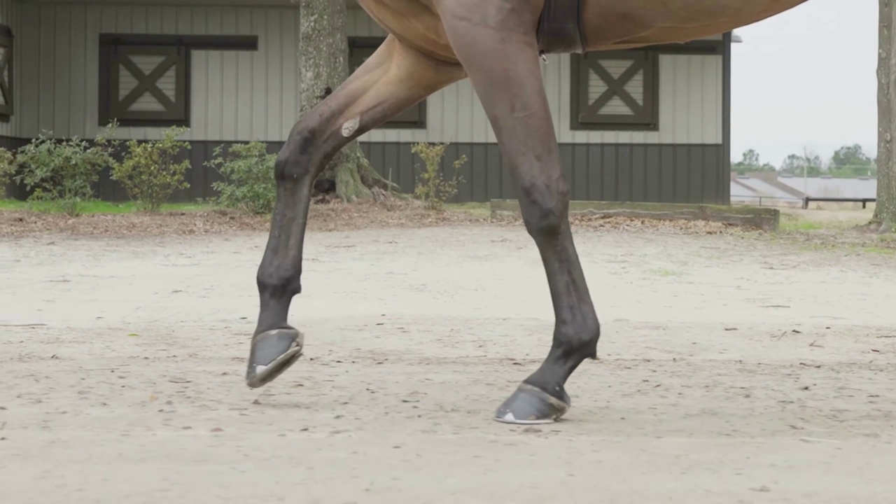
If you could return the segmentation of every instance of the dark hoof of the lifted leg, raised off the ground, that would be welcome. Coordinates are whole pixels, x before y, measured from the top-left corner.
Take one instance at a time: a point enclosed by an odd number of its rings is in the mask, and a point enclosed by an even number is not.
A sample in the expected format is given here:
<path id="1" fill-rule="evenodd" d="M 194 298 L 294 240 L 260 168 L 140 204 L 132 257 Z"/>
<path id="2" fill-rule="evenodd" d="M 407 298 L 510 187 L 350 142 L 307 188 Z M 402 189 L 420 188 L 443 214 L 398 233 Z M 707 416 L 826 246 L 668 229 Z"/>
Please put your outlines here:
<path id="1" fill-rule="evenodd" d="M 267 385 L 302 356 L 305 335 L 292 327 L 274 329 L 252 338 L 252 350 L 246 369 L 246 385 Z"/>

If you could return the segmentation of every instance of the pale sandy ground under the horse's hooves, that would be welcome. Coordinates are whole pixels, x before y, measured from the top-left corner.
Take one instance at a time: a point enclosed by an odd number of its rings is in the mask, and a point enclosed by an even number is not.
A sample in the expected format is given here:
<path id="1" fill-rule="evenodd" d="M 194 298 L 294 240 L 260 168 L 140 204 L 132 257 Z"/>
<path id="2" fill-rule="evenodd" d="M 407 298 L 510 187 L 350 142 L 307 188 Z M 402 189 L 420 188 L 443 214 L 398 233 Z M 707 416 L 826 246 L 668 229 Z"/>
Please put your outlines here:
<path id="1" fill-rule="evenodd" d="M 579 231 L 600 360 L 522 428 L 491 415 L 553 316 L 521 228 L 310 233 L 306 357 L 253 391 L 265 238 L 0 240 L 0 501 L 892 501 L 896 256 Z"/>

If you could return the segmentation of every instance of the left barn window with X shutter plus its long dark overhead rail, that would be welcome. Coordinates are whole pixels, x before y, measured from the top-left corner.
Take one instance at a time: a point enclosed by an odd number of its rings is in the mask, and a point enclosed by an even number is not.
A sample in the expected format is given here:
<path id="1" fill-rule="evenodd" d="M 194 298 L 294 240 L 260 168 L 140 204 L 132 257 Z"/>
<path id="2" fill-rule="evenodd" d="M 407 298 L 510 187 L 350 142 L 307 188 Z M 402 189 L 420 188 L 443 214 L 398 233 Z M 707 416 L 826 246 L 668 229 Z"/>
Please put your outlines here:
<path id="1" fill-rule="evenodd" d="M 190 52 L 258 50 L 255 36 L 99 36 L 99 124 L 190 126 Z"/>

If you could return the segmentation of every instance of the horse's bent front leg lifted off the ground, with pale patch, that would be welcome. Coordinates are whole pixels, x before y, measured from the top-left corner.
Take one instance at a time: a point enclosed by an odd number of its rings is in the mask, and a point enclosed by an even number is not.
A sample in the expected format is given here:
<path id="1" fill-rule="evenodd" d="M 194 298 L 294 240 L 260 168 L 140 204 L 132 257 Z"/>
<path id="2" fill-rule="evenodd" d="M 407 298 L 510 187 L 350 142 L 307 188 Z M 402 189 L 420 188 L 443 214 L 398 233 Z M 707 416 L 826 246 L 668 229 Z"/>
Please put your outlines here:
<path id="1" fill-rule="evenodd" d="M 302 291 L 302 246 L 314 179 L 351 140 L 464 76 L 460 65 L 436 61 L 389 36 L 292 128 L 274 168 L 277 199 L 258 268 L 261 308 L 246 369 L 249 387 L 277 378 L 302 352 L 303 336 L 287 317 L 290 301 Z"/>

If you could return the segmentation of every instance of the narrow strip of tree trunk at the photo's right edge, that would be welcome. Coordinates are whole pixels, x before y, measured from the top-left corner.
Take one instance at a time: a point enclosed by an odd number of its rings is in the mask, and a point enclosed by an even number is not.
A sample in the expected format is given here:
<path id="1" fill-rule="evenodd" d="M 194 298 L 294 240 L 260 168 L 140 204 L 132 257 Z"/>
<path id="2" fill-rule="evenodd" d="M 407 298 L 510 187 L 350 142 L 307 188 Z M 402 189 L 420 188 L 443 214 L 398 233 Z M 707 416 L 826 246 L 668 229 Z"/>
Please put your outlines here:
<path id="1" fill-rule="evenodd" d="M 877 204 L 872 225 L 883 232 L 896 228 L 896 0 L 879 0 L 877 51 Z"/>

